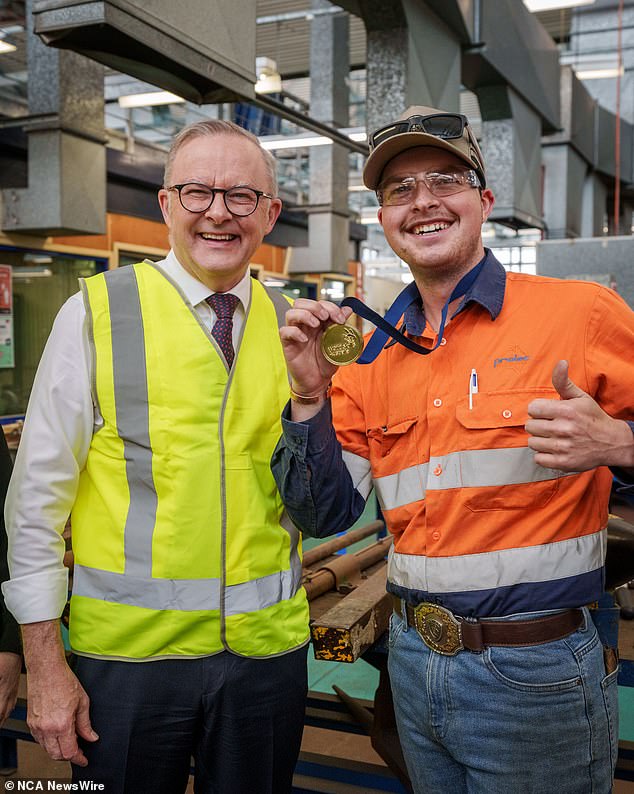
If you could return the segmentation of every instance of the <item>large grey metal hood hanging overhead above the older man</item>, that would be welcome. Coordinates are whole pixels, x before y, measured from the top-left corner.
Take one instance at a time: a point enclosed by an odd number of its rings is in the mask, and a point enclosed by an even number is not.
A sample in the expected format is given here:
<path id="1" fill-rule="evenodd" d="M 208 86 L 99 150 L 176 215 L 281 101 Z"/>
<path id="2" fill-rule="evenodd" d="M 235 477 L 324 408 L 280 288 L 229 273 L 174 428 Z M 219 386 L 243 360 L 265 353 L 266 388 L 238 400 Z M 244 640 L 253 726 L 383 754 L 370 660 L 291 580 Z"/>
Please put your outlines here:
<path id="1" fill-rule="evenodd" d="M 53 47 L 161 86 L 191 102 L 255 97 L 256 5 L 250 0 L 35 0 L 35 32 Z"/>

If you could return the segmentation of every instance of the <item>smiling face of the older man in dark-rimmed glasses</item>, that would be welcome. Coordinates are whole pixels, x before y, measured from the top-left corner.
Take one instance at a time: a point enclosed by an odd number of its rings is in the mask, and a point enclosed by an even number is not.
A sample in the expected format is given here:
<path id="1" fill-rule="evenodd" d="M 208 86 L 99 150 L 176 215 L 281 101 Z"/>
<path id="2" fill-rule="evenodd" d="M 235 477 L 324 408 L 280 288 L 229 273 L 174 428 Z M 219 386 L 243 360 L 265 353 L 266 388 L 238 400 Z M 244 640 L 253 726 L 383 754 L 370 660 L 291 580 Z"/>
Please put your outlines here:
<path id="1" fill-rule="evenodd" d="M 176 153 L 169 178 L 170 185 L 247 185 L 266 193 L 272 189 L 257 145 L 240 135 L 222 133 L 184 143 Z M 159 204 L 178 261 L 214 292 L 226 292 L 240 281 L 282 208 L 279 199 L 261 197 L 252 215 L 238 217 L 229 212 L 217 193 L 206 212 L 192 213 L 181 206 L 177 191 L 164 188 L 159 191 Z"/>

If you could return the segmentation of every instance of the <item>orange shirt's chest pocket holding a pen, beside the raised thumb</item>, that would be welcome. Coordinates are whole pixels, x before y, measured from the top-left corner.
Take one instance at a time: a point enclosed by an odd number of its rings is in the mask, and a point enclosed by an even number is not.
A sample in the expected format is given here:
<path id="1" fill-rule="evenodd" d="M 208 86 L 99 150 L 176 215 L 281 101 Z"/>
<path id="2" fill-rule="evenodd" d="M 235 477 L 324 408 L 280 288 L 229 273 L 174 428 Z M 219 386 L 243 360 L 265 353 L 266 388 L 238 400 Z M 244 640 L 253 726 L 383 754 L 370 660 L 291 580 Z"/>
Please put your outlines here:
<path id="1" fill-rule="evenodd" d="M 552 499 L 562 473 L 535 463 L 524 425 L 532 400 L 558 396 L 552 388 L 532 388 L 480 392 L 472 408 L 468 397 L 459 401 L 460 481 L 469 510 L 520 510 Z"/>

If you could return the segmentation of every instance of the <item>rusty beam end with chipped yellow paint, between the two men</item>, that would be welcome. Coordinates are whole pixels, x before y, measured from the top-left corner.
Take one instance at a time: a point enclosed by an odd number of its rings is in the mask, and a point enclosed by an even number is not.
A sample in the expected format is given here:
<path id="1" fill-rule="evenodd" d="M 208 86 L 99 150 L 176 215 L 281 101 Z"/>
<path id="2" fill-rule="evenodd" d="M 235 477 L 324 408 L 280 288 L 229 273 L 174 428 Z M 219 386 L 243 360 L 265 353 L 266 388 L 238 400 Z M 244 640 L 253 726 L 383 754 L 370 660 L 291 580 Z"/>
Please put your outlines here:
<path id="1" fill-rule="evenodd" d="M 384 564 L 336 606 L 311 621 L 316 659 L 354 662 L 387 631 L 392 602 L 385 591 L 386 577 Z"/>

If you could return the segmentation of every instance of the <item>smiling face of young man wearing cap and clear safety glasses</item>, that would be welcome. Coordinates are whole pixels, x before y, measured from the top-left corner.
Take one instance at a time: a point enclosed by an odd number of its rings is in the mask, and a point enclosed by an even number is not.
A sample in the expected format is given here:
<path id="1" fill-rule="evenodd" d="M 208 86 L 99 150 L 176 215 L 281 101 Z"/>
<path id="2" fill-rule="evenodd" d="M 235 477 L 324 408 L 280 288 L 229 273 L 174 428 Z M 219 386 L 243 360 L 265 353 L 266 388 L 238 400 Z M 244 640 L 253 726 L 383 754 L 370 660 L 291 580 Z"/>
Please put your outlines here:
<path id="1" fill-rule="evenodd" d="M 421 176 L 428 171 L 465 167 L 442 149 L 417 147 L 399 154 L 385 167 L 381 182 Z M 490 190 L 475 188 L 452 196 L 434 196 L 418 182 L 409 204 L 381 207 L 379 221 L 392 250 L 406 262 L 414 277 L 425 281 L 454 279 L 484 256 L 482 224 L 493 209 Z"/>

